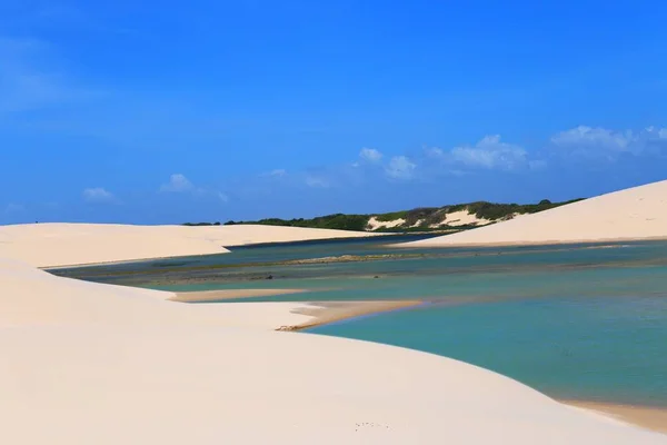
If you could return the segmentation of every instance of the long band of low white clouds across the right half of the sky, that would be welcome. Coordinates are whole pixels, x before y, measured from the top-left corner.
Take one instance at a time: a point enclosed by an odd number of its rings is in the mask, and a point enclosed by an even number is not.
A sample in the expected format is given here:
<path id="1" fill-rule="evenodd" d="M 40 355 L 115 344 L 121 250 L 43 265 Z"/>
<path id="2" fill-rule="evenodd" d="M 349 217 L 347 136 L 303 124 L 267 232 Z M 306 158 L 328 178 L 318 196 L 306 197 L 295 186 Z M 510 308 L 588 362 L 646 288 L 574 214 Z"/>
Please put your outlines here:
<path id="1" fill-rule="evenodd" d="M 505 141 L 500 135 L 487 135 L 472 145 L 451 148 L 425 146 L 409 156 L 386 156 L 380 149 L 362 148 L 357 159 L 349 164 L 326 168 L 323 174 L 307 172 L 305 185 L 328 188 L 334 184 L 359 186 L 381 180 L 430 181 L 478 171 L 538 174 L 550 168 L 566 168 L 575 162 L 570 158 L 574 152 L 584 154 L 593 162 L 616 160 L 617 155 L 624 152 L 637 157 L 667 157 L 667 128 L 616 131 L 580 126 L 552 135 L 530 149 Z"/>

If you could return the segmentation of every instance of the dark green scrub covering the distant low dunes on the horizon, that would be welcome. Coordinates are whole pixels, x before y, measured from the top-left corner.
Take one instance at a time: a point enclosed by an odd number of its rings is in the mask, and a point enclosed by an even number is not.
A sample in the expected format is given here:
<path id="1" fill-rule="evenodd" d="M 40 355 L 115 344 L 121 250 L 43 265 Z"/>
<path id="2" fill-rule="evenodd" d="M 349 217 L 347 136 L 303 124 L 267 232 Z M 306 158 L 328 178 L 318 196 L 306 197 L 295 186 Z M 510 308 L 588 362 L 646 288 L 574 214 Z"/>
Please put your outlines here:
<path id="1" fill-rule="evenodd" d="M 295 218 L 280 219 L 267 218 L 258 221 L 227 221 L 226 226 L 259 224 L 265 226 L 287 226 L 287 227 L 309 227 L 318 229 L 338 229 L 338 230 L 369 230 L 368 221 L 374 218 L 380 222 L 389 222 L 398 219 L 404 219 L 405 222 L 386 228 L 381 227 L 374 231 L 378 233 L 410 233 L 410 231 L 436 231 L 436 230 L 466 230 L 476 226 L 457 226 L 448 227 L 442 225 L 447 218 L 447 214 L 454 211 L 468 210 L 477 218 L 484 218 L 494 222 L 511 218 L 515 214 L 536 214 L 538 211 L 549 210 L 566 204 L 579 201 L 574 199 L 565 202 L 551 202 L 548 199 L 542 199 L 538 204 L 495 204 L 487 201 L 458 204 L 444 207 L 422 207 L 412 210 L 391 211 L 387 214 L 376 215 L 345 215 L 334 214 L 319 216 L 316 218 Z M 220 222 L 186 222 L 185 226 L 219 226 Z M 436 228 L 431 226 L 438 226 Z"/>

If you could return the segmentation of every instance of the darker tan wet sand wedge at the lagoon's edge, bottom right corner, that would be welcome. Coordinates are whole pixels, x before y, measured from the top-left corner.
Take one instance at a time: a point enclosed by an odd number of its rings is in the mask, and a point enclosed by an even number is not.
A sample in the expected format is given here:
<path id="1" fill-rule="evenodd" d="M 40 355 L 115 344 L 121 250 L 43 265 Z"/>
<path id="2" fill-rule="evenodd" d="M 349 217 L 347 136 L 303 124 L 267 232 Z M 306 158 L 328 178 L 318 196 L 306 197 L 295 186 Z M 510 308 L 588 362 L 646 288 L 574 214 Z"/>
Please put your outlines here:
<path id="1" fill-rule="evenodd" d="M 667 434 L 667 407 L 571 399 L 557 399 L 557 402 L 575 408 L 600 414 L 629 425 Z"/>

